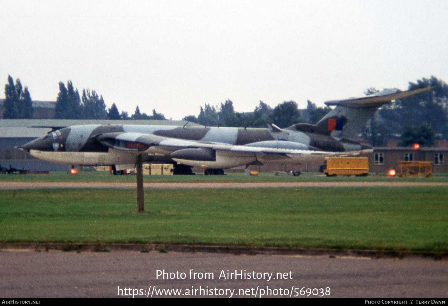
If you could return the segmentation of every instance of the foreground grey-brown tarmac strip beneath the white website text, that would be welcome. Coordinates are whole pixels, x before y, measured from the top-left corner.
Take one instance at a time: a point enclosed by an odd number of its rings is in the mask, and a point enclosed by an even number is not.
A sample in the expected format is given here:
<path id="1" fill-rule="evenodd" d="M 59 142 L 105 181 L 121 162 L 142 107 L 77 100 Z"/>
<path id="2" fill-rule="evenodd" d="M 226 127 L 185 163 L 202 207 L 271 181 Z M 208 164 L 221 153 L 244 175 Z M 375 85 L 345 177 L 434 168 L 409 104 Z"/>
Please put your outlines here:
<path id="1" fill-rule="evenodd" d="M 213 279 L 199 280 L 202 274 L 190 279 L 191 269 L 193 273 L 212 272 Z M 166 279 L 169 274 L 165 275 L 165 279 L 157 279 L 157 270 L 179 272 L 179 278 L 184 277 L 180 274 L 184 272 L 185 279 Z M 237 270 L 238 273 L 243 270 L 246 279 L 238 276 L 235 280 L 234 275 L 232 279 L 227 279 L 227 270 Z M 221 271 L 224 271 L 226 279 L 220 278 Z M 268 280 L 268 274 L 257 273 L 273 274 Z M 281 273 L 282 279 L 277 273 Z M 249 274 L 262 278 L 248 279 Z M 176 277 L 175 274 L 171 276 Z M 193 295 L 198 296 L 199 289 L 205 288 L 209 297 L 215 297 L 215 294 L 223 294 L 223 297 L 227 294 L 229 297 L 232 292 L 233 297 L 242 297 L 243 294 L 254 297 L 252 294 L 255 292 L 259 297 L 263 293 L 261 289 L 265 294 L 266 289 L 271 289 L 271 294 L 280 297 L 280 288 L 283 294 L 287 289 L 294 296 L 299 294 L 296 292 L 302 287 L 305 287 L 304 290 L 319 289 L 314 293 L 319 291 L 318 295 L 324 294 L 324 297 L 448 297 L 448 261 L 421 258 L 2 250 L 0 279 L 2 297 L 10 298 L 117 297 L 119 293 L 129 294 L 125 288 L 142 289 L 136 293 L 147 294 L 149 291 L 153 297 L 160 289 L 179 289 L 181 297 L 186 297 L 185 294 L 190 293 L 191 289 Z M 298 290 L 294 290 L 296 288 Z M 321 288 L 323 293 L 320 293 Z M 327 292 L 329 296 L 325 295 Z"/>

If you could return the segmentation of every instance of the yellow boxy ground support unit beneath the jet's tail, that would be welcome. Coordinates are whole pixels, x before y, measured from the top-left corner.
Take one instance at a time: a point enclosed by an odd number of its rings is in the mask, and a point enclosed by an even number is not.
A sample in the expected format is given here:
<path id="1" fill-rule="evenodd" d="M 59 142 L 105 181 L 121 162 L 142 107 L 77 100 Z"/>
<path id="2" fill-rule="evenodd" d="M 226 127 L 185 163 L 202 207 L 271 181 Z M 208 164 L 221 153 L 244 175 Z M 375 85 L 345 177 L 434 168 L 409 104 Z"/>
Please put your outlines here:
<path id="1" fill-rule="evenodd" d="M 369 175 L 367 157 L 325 157 L 323 173 L 336 175 Z"/>

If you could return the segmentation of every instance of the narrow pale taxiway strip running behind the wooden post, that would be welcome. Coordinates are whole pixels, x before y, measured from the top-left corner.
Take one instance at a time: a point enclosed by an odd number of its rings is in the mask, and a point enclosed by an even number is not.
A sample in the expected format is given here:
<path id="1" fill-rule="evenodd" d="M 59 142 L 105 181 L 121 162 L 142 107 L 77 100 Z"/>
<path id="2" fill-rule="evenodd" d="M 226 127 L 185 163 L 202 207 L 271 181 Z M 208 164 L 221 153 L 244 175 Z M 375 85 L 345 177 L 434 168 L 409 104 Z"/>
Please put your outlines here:
<path id="1" fill-rule="evenodd" d="M 145 188 L 268 188 L 268 187 L 448 187 L 448 182 L 286 182 L 286 183 L 144 183 Z M 129 182 L 1 182 L 0 190 L 38 188 L 136 188 Z"/>

